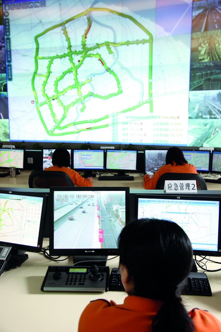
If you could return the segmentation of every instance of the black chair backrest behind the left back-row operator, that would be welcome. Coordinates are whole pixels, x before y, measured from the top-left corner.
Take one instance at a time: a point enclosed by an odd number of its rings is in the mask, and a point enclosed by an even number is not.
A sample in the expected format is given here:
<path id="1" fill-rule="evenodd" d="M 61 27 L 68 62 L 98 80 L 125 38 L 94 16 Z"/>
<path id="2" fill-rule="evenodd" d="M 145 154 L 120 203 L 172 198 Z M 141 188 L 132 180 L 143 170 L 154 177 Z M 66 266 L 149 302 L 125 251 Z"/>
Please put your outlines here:
<path id="1" fill-rule="evenodd" d="M 59 171 L 32 171 L 29 188 L 74 187 L 71 178 Z"/>

